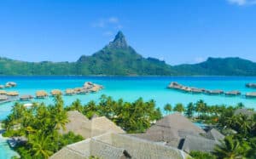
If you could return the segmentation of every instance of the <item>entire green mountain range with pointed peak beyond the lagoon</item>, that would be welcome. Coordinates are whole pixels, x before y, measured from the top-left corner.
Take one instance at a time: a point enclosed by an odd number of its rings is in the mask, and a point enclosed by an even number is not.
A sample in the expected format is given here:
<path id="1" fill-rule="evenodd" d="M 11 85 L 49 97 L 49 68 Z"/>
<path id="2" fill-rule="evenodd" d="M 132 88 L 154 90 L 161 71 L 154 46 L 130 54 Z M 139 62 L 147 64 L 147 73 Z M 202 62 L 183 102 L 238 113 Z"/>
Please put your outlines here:
<path id="1" fill-rule="evenodd" d="M 25 62 L 0 58 L 0 75 L 256 76 L 256 63 L 240 58 L 208 58 L 194 65 L 167 65 L 137 54 L 119 31 L 113 42 L 76 62 Z"/>

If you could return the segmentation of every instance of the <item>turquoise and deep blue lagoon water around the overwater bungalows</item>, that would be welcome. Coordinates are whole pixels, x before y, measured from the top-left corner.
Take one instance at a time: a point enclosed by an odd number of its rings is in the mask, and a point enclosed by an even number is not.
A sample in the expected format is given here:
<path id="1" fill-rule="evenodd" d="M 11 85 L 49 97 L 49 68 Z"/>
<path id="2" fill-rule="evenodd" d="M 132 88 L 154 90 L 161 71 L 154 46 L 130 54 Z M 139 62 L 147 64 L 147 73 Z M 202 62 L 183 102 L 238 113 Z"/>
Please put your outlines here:
<path id="1" fill-rule="evenodd" d="M 66 88 L 81 87 L 84 82 L 89 81 L 104 86 L 104 89 L 96 94 L 63 96 L 65 105 L 70 105 L 75 99 L 80 99 L 84 104 L 90 100 L 97 101 L 102 94 L 106 94 L 112 96 L 113 99 L 122 98 L 125 101 L 134 101 L 140 97 L 144 100 L 154 99 L 161 109 L 166 103 L 187 105 L 199 99 L 203 99 L 209 105 L 236 105 L 242 102 L 246 107 L 256 109 L 256 99 L 246 99 L 242 95 L 225 97 L 224 95 L 185 94 L 166 88 L 170 82 L 179 82 L 197 88 L 240 90 L 241 94 L 246 94 L 256 92 L 256 89 L 245 87 L 247 82 L 256 82 L 256 77 L 0 77 L 0 84 L 9 81 L 17 82 L 17 87 L 6 90 L 18 91 L 20 95 L 35 95 L 35 92 L 41 89 L 50 92 L 58 88 L 64 91 Z M 34 99 L 33 101 L 53 103 L 52 98 Z M 8 116 L 12 105 L 14 103 L 0 105 L 0 120 Z M 4 142 L 0 142 L 0 159 L 8 158 L 2 156 L 3 144 Z"/>

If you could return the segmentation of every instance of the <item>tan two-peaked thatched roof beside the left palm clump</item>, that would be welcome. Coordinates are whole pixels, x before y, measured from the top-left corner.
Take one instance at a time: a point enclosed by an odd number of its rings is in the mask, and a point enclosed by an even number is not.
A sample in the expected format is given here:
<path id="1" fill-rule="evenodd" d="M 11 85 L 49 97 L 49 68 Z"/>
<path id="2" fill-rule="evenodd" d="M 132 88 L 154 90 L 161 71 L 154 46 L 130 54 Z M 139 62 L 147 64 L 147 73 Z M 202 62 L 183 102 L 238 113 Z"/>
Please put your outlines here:
<path id="1" fill-rule="evenodd" d="M 125 133 L 124 130 L 104 116 L 89 120 L 79 111 L 68 111 L 67 116 L 69 122 L 66 124 L 66 130 L 61 130 L 61 133 L 72 131 L 82 135 L 85 139 L 106 132 Z"/>

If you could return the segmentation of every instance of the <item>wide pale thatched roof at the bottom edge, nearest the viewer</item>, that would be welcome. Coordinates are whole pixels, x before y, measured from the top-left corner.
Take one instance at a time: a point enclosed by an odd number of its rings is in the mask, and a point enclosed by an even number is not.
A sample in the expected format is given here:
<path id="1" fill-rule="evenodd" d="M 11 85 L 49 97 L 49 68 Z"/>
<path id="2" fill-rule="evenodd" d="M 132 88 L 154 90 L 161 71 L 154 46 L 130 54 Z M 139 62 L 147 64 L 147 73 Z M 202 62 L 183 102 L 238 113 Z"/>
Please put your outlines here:
<path id="1" fill-rule="evenodd" d="M 106 159 L 154 158 L 185 159 L 188 157 L 182 150 L 159 145 L 144 139 L 137 139 L 125 134 L 104 133 L 94 138 L 67 145 L 51 159 L 82 159 L 97 156 Z"/>

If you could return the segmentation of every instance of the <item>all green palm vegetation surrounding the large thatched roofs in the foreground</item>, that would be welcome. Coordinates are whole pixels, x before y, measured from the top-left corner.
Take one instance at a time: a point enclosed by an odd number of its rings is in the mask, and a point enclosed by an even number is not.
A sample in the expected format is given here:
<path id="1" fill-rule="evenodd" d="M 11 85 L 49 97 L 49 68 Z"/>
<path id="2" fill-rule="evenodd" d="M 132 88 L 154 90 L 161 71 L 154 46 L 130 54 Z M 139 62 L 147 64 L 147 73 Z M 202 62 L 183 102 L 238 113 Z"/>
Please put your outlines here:
<path id="1" fill-rule="evenodd" d="M 207 105 L 203 100 L 183 105 L 166 104 L 164 111 L 181 112 L 193 122 L 211 124 L 226 136 L 212 152 L 191 151 L 194 158 L 235 159 L 256 158 L 256 115 L 255 113 L 235 113 L 245 109 L 241 103 L 235 106 Z M 33 104 L 26 108 L 16 103 L 9 116 L 3 121 L 6 128 L 4 136 L 25 136 L 26 144 L 15 148 L 21 158 L 48 158 L 63 146 L 83 139 L 73 132 L 58 133 L 65 129 L 67 111 L 79 111 L 84 116 L 106 116 L 127 133 L 144 133 L 155 121 L 162 117 L 154 100 L 134 102 L 123 99 L 114 100 L 102 95 L 98 102 L 91 100 L 83 105 L 79 99 L 64 107 L 61 96 L 55 97 L 55 105 Z M 253 112 L 253 111 L 250 111 Z"/>

